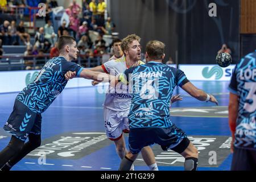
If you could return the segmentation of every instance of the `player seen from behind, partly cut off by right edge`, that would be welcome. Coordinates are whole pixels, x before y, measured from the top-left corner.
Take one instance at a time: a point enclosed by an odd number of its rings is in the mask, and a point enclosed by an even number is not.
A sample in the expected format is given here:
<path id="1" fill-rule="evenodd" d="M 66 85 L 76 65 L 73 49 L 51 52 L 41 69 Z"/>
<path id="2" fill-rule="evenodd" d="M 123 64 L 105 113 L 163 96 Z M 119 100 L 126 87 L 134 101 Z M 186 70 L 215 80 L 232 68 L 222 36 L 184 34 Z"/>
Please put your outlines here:
<path id="1" fill-rule="evenodd" d="M 229 90 L 232 170 L 256 170 L 256 52 L 234 69 Z"/>

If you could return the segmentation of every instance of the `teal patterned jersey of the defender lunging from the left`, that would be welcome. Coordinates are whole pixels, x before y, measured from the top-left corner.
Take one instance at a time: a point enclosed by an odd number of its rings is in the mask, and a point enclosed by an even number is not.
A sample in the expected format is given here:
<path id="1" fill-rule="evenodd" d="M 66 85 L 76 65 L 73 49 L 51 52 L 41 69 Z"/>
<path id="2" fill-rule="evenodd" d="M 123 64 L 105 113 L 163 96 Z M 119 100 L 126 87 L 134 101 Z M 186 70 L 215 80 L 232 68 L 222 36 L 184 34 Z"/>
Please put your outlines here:
<path id="1" fill-rule="evenodd" d="M 76 71 L 79 77 L 82 69 L 80 65 L 62 56 L 53 57 L 44 65 L 34 82 L 28 84 L 16 99 L 35 113 L 43 113 L 65 88 L 65 73 Z"/>

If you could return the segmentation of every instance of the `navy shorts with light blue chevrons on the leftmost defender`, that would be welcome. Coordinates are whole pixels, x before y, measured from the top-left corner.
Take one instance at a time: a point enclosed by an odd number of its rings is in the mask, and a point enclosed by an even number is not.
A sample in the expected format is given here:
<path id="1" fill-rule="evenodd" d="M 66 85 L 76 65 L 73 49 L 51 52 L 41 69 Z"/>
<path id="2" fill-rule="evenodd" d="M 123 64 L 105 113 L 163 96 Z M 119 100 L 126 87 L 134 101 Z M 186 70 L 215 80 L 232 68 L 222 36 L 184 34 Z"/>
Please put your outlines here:
<path id="1" fill-rule="evenodd" d="M 34 113 L 26 105 L 15 99 L 13 112 L 3 129 L 20 140 L 26 141 L 30 133 L 41 134 L 41 114 Z"/>

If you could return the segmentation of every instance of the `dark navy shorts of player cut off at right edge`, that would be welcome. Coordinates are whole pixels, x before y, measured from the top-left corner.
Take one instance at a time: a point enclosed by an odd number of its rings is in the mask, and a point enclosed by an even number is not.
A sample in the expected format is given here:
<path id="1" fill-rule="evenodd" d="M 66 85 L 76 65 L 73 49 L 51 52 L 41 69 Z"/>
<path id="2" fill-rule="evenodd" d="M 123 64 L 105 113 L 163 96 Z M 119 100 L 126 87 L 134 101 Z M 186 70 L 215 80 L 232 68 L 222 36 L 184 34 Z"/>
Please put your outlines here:
<path id="1" fill-rule="evenodd" d="M 232 171 L 256 171 L 256 150 L 234 147 Z"/>

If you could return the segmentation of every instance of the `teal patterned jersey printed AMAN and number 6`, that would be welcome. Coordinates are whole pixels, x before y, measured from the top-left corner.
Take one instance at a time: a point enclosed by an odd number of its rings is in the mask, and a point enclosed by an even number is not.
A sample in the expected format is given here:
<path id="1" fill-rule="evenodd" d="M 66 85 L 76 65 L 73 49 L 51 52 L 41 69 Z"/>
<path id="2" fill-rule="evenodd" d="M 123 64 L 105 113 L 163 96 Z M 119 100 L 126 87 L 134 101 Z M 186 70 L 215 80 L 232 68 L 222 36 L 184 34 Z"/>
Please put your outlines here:
<path id="1" fill-rule="evenodd" d="M 127 69 L 121 79 L 128 81 L 133 96 L 129 113 L 130 128 L 170 127 L 170 100 L 176 85 L 188 82 L 184 72 L 150 61 Z"/>

